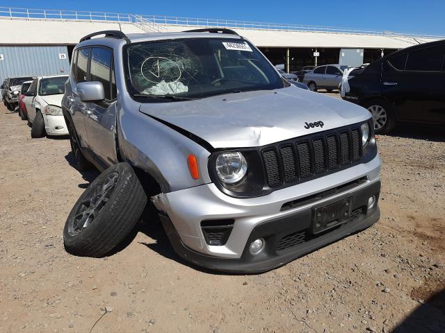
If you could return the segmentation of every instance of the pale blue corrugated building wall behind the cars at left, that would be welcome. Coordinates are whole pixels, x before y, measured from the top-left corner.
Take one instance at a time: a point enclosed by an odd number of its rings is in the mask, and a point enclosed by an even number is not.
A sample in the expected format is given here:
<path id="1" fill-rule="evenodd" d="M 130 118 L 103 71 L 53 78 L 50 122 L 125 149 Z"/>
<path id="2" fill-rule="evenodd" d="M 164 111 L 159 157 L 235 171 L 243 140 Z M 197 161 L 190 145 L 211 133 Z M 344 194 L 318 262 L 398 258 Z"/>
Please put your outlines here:
<path id="1" fill-rule="evenodd" d="M 59 54 L 65 54 L 60 59 Z M 67 74 L 70 60 L 67 46 L 0 45 L 0 83 L 15 76 Z"/>

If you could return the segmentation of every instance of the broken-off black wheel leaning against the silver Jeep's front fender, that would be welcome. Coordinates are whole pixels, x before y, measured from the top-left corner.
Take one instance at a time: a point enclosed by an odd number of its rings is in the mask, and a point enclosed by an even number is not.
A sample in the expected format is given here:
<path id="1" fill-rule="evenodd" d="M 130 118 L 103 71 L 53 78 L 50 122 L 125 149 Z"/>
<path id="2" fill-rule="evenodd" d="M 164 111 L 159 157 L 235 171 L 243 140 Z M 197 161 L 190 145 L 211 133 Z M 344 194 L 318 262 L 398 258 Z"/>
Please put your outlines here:
<path id="1" fill-rule="evenodd" d="M 136 225 L 147 196 L 136 173 L 122 162 L 102 172 L 74 204 L 63 230 L 65 250 L 104 257 Z"/>

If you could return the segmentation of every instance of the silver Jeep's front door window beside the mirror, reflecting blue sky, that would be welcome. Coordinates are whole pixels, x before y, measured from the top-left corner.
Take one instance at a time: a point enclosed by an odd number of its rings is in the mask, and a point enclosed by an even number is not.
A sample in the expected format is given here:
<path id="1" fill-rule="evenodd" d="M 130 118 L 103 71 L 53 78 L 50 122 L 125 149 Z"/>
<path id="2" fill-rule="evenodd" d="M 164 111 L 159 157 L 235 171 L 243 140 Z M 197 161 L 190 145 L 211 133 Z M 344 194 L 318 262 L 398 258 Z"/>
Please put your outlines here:
<path id="1" fill-rule="evenodd" d="M 92 47 L 90 62 L 90 81 L 99 81 L 104 85 L 105 99 L 111 100 L 111 49 L 103 47 Z"/>

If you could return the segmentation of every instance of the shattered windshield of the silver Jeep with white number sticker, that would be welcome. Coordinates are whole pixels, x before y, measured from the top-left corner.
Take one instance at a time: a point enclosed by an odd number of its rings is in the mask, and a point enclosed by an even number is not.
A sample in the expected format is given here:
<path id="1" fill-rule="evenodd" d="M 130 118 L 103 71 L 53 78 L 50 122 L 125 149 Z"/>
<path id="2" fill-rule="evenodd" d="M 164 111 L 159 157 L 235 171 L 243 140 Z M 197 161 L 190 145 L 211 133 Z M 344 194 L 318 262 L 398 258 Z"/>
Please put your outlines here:
<path id="1" fill-rule="evenodd" d="M 202 98 L 284 86 L 270 63 L 245 40 L 143 42 L 129 45 L 127 57 L 129 87 L 138 97 Z"/>

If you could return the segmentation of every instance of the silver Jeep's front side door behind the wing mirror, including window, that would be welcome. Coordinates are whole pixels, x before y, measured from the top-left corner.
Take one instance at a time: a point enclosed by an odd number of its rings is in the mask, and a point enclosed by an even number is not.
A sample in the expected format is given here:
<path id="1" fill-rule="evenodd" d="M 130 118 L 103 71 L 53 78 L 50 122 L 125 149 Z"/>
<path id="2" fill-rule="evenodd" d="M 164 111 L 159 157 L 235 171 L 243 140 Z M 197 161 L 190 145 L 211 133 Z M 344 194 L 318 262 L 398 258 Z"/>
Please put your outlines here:
<path id="1" fill-rule="evenodd" d="M 97 162 L 108 167 L 117 160 L 115 153 L 116 85 L 113 70 L 113 50 L 106 46 L 92 46 L 89 81 L 104 86 L 105 99 L 83 103 L 86 131 L 90 148 Z"/>

